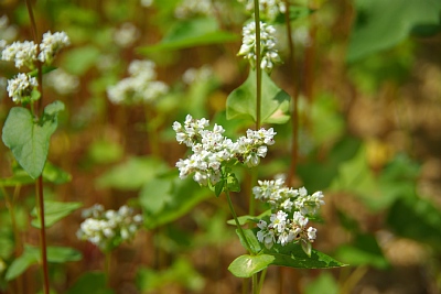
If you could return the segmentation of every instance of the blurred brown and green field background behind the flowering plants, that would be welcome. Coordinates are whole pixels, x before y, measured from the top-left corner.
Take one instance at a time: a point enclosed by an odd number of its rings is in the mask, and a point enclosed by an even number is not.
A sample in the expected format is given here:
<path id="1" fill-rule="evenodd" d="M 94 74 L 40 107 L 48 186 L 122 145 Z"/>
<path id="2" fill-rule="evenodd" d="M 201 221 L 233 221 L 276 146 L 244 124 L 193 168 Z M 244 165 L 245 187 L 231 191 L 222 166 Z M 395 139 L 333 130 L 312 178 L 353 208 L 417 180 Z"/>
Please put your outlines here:
<path id="1" fill-rule="evenodd" d="M 227 270 L 244 253 L 226 224 L 228 206 L 192 181 L 180 182 L 174 165 L 185 148 L 171 126 L 191 113 L 223 124 L 232 137 L 252 127 L 225 118 L 226 99 L 249 69 L 237 56 L 250 18 L 244 4 L 31 2 L 39 33 L 64 31 L 72 43 L 55 61 L 57 69 L 45 75 L 43 104 L 66 105 L 49 154 L 65 174 L 45 185 L 45 197 L 84 208 L 129 204 L 146 218 L 136 239 L 112 252 L 111 290 L 97 286 L 94 293 L 240 293 L 243 282 Z M 24 1 L 2 0 L 0 11 L 0 39 L 32 40 Z M 349 266 L 270 268 L 262 293 L 441 293 L 441 2 L 299 0 L 290 15 L 294 57 L 279 15 L 273 24 L 283 64 L 271 78 L 299 102 L 291 184 L 324 192 L 314 248 Z M 151 104 L 111 102 L 107 88 L 129 76 L 133 59 L 153 61 L 169 91 Z M 6 79 L 17 73 L 0 62 L 1 127 L 13 107 Z M 259 167 L 259 178 L 267 179 L 288 173 L 293 132 L 291 121 L 270 127 L 276 144 Z M 0 185 L 11 193 L 17 187 L 6 179 L 13 168 L 12 154 L 0 144 Z M 23 244 L 13 241 L 2 198 L 0 192 L 0 293 L 9 293 L 4 272 Z M 238 214 L 246 214 L 248 196 L 234 198 Z M 37 246 L 30 225 L 33 185 L 19 187 L 17 203 L 22 243 Z M 77 293 L 82 279 L 103 282 L 104 255 L 76 237 L 82 220 L 79 209 L 47 230 L 50 244 L 83 254 L 51 265 L 54 293 Z M 21 279 L 24 293 L 41 288 L 37 266 Z"/>

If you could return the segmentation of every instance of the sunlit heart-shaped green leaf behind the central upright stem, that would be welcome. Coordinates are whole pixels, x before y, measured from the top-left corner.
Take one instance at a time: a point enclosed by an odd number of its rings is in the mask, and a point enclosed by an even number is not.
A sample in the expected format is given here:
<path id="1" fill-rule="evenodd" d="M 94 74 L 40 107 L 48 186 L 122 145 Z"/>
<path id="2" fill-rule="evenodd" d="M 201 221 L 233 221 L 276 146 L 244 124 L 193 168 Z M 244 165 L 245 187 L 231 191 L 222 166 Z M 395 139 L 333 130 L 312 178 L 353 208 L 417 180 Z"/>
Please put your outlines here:
<path id="1" fill-rule="evenodd" d="M 291 98 L 276 86 L 265 72 L 262 72 L 261 94 L 261 123 L 286 123 L 289 120 L 286 113 Z M 254 70 L 250 70 L 245 83 L 228 96 L 227 119 L 256 121 L 256 74 Z"/>

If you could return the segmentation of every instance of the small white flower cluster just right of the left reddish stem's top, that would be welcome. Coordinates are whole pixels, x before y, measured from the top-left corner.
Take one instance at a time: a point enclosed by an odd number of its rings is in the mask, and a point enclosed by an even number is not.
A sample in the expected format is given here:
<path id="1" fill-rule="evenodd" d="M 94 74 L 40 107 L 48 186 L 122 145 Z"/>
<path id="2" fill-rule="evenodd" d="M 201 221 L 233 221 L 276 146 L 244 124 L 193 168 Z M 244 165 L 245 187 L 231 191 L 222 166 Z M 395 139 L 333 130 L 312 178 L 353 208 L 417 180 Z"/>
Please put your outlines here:
<path id="1" fill-rule="evenodd" d="M 64 47 L 71 45 L 71 41 L 65 32 L 51 31 L 43 34 L 42 43 L 40 44 L 39 59 L 42 63 L 51 64 L 55 55 Z"/>

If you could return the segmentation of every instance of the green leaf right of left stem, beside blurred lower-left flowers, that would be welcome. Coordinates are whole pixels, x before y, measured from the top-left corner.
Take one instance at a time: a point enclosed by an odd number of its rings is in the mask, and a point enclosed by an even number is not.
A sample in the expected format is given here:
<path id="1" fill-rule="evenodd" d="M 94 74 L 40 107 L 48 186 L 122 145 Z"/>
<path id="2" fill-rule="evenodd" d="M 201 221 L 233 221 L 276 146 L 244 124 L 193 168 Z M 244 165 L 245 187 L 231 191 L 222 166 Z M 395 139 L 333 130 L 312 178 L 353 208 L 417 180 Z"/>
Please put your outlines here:
<path id="1" fill-rule="evenodd" d="M 44 226 L 50 228 L 60 219 L 65 218 L 66 216 L 71 215 L 73 211 L 82 207 L 82 203 L 61 203 L 61 202 L 44 202 Z M 34 208 L 31 211 L 31 215 L 35 217 L 32 219 L 31 225 L 35 228 L 41 228 L 40 226 L 40 218 L 36 217 L 36 209 Z"/>

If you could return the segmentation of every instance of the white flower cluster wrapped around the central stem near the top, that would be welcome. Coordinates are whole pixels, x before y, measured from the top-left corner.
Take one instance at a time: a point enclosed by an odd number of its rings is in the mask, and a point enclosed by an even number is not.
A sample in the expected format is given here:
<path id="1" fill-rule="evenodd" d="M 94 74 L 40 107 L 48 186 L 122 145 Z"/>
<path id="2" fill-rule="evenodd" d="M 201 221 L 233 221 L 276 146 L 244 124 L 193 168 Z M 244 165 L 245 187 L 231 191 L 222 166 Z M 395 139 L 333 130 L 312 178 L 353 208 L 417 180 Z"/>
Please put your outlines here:
<path id="1" fill-rule="evenodd" d="M 275 26 L 260 22 L 260 68 L 271 73 L 275 64 L 281 62 L 276 50 Z M 237 54 L 249 59 L 252 67 L 256 66 L 256 23 L 249 22 L 243 29 L 243 43 Z"/>

